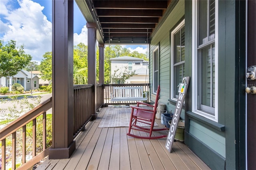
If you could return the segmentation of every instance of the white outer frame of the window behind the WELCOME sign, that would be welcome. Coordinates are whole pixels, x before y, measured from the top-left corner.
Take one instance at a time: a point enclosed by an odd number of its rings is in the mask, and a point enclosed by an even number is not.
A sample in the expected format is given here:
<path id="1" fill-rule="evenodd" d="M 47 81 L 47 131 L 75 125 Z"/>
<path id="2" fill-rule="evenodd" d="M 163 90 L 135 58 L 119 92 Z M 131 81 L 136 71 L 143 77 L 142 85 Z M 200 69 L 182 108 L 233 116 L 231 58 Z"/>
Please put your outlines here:
<path id="1" fill-rule="evenodd" d="M 171 99 L 177 101 L 174 96 L 174 34 L 185 25 L 185 19 L 171 32 Z"/>

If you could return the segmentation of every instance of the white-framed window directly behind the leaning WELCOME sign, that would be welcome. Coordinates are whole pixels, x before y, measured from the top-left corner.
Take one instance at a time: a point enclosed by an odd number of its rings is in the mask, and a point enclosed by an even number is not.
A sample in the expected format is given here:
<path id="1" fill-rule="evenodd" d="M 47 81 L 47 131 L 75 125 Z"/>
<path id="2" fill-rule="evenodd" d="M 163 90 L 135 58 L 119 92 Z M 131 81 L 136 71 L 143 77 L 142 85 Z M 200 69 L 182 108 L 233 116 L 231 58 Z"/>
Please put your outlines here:
<path id="1" fill-rule="evenodd" d="M 172 54 L 172 81 L 171 81 L 171 99 L 178 99 L 178 85 L 182 83 L 185 74 L 185 20 L 183 20 L 171 32 L 171 54 Z"/>

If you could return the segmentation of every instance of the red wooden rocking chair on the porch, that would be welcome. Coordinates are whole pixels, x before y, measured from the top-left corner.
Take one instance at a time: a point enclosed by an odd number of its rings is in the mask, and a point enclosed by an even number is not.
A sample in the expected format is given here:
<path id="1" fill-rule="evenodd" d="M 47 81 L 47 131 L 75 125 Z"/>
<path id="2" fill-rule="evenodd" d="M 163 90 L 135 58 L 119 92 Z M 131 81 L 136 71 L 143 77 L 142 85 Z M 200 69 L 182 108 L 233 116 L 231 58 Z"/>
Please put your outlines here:
<path id="1" fill-rule="evenodd" d="M 167 136 L 167 135 L 151 136 L 152 131 L 166 130 L 166 128 L 154 129 L 154 122 L 155 122 L 155 117 L 156 117 L 159 95 L 160 95 L 160 86 L 158 86 L 158 89 L 156 92 L 156 101 L 155 101 L 154 106 L 150 105 L 148 103 L 142 103 L 142 102 L 137 102 L 137 106 L 131 106 L 132 113 L 131 113 L 130 124 L 129 124 L 129 132 L 127 133 L 128 136 L 132 136 L 135 138 L 142 138 L 142 139 L 157 139 L 157 138 L 164 138 Z M 153 110 L 139 107 L 139 105 L 146 105 L 146 106 L 152 107 Z M 150 125 L 150 128 L 140 127 L 137 125 L 137 122 L 146 123 L 146 124 Z M 138 136 L 135 134 L 131 134 L 130 133 L 131 129 L 147 132 L 147 133 L 149 133 L 149 135 L 148 136 Z"/>

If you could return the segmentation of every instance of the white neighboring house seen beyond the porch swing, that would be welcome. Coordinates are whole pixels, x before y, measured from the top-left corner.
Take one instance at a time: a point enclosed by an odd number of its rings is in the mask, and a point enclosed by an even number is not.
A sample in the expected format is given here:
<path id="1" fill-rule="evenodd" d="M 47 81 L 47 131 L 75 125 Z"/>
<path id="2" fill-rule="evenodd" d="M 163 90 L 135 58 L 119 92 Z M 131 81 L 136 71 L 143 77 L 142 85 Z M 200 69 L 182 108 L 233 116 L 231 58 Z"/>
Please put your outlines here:
<path id="1" fill-rule="evenodd" d="M 116 71 L 118 74 L 124 71 L 134 71 L 136 75 L 125 80 L 124 83 L 148 83 L 148 61 L 141 58 L 122 56 L 111 58 L 111 75 Z M 120 80 L 112 80 L 112 82 L 120 83 Z"/>

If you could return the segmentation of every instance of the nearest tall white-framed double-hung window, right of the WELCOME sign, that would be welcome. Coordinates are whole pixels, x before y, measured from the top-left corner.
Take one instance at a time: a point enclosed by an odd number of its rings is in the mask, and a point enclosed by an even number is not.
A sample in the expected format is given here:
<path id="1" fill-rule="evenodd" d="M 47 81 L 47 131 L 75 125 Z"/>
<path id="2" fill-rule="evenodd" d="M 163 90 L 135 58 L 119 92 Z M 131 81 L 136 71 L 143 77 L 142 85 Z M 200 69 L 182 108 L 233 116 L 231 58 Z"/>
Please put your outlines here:
<path id="1" fill-rule="evenodd" d="M 218 121 L 218 1 L 192 1 L 192 111 Z M 193 21 L 194 20 L 194 21 Z"/>

